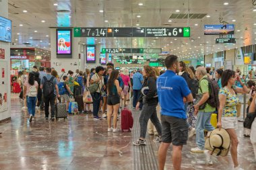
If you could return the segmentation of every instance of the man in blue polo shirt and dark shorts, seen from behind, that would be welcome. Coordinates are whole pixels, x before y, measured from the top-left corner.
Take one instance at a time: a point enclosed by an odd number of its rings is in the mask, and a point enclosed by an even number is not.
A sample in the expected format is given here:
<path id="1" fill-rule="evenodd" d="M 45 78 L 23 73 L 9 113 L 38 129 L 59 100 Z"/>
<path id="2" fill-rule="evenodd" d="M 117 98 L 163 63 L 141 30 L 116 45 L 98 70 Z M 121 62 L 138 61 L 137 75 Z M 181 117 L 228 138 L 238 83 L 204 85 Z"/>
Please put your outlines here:
<path id="1" fill-rule="evenodd" d="M 193 96 L 179 72 L 178 57 L 166 56 L 167 71 L 156 82 L 161 105 L 162 143 L 158 150 L 158 169 L 163 170 L 166 153 L 172 142 L 172 163 L 175 170 L 181 169 L 181 151 L 187 144 L 188 125 L 184 102 L 193 101 Z"/>

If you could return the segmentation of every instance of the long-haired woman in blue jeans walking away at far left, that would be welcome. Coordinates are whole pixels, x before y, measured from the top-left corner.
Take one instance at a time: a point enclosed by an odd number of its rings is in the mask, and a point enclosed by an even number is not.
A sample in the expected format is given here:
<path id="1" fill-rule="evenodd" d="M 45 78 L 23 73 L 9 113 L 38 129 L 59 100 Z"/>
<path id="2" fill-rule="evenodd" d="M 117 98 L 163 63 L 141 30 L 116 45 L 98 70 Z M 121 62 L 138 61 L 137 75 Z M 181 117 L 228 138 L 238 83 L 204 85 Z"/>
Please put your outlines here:
<path id="1" fill-rule="evenodd" d="M 27 99 L 30 122 L 34 121 L 34 114 L 36 113 L 37 93 L 38 83 L 37 81 L 34 81 L 34 73 L 30 73 L 24 84 L 24 98 Z"/>

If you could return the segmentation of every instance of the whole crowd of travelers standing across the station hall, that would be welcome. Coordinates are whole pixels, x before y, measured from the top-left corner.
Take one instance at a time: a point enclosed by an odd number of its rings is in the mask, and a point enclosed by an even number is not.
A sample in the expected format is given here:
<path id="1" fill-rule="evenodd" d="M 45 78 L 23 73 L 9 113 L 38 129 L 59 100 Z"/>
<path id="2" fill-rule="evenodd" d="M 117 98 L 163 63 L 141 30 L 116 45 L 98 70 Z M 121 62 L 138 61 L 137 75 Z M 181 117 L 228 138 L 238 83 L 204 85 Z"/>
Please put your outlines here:
<path id="1" fill-rule="evenodd" d="M 68 112 L 69 102 L 75 97 L 75 89 L 79 86 L 82 95 L 86 94 L 84 97 L 92 97 L 92 102 L 83 103 L 81 113 L 92 113 L 94 120 L 106 119 L 107 131 L 119 132 L 119 114 L 132 99 L 132 110 L 141 111 L 139 139 L 133 145 L 146 145 L 147 131 L 155 135 L 153 141 L 161 142 L 158 150 L 160 170 L 164 169 L 170 143 L 173 167 L 175 170 L 181 169 L 183 145 L 194 135 L 196 147 L 191 148 L 191 153 L 203 153 L 207 165 L 213 165 L 213 155 L 226 156 L 230 151 L 234 169 L 243 169 L 237 157 L 236 128 L 241 108 L 237 107 L 239 102 L 236 94 L 249 93 L 244 133 L 245 137 L 251 138 L 256 154 L 256 95 L 252 77 L 248 76 L 247 81 L 242 81 L 239 71 L 187 67 L 185 62 L 179 61 L 174 55 L 166 56 L 164 64 L 166 71 L 148 65 L 136 71 L 118 71 L 112 63 L 108 63 L 106 68 L 98 66 L 86 71 L 77 69 L 75 73 L 66 73 L 65 69 L 61 69 L 59 74 L 54 68 L 38 69 L 35 66 L 31 73 L 24 71 L 18 75 L 18 83 L 22 87 L 20 99 L 24 101 L 22 109 L 28 110 L 29 122 L 34 122 L 35 114 L 40 110 L 44 110 L 45 120 L 51 114 L 51 121 L 55 121 L 56 103 L 65 102 Z M 60 83 L 64 85 L 64 92 L 59 89 Z M 50 87 L 53 93 L 50 93 Z M 225 134 L 230 139 L 227 147 L 224 146 L 228 142 Z M 209 142 L 212 149 L 208 147 Z"/>

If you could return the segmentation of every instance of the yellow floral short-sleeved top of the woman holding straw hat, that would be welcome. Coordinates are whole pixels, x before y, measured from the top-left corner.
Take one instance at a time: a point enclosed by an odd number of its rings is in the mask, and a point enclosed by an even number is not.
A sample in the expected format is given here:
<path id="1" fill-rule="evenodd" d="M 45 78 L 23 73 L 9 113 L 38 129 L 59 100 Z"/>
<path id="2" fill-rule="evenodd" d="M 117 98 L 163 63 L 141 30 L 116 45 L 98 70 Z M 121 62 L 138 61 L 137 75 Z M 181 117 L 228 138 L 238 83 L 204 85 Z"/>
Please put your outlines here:
<path id="1" fill-rule="evenodd" d="M 234 89 L 234 87 L 232 88 Z M 238 103 L 236 94 L 232 94 L 226 87 L 220 89 L 219 95 L 220 94 L 226 96 L 222 117 L 236 117 L 236 104 Z"/>

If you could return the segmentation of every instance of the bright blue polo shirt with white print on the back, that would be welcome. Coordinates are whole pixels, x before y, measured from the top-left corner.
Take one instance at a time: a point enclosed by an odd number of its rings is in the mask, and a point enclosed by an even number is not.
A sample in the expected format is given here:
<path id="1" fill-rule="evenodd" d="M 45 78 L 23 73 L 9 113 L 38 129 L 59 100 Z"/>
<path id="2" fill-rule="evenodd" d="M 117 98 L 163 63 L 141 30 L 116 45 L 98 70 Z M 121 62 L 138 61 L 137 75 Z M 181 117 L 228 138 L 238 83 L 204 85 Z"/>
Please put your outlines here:
<path id="1" fill-rule="evenodd" d="M 156 81 L 161 114 L 186 119 L 183 97 L 191 93 L 185 79 L 167 70 Z"/>

